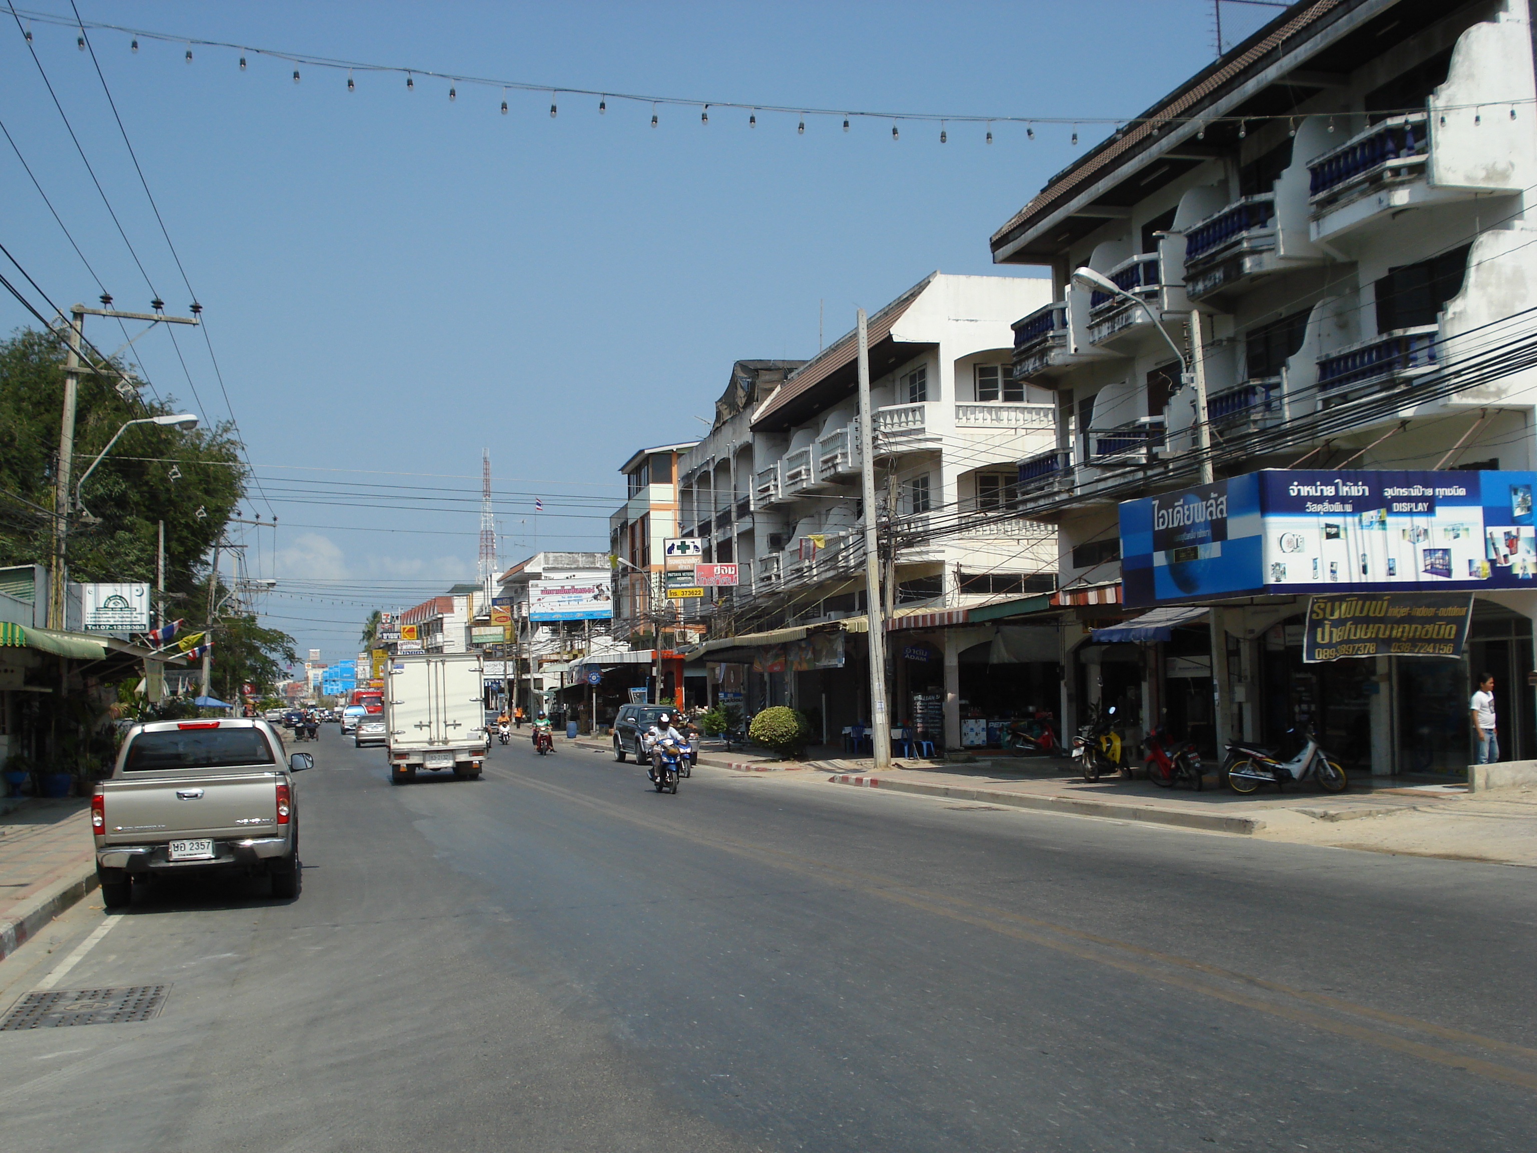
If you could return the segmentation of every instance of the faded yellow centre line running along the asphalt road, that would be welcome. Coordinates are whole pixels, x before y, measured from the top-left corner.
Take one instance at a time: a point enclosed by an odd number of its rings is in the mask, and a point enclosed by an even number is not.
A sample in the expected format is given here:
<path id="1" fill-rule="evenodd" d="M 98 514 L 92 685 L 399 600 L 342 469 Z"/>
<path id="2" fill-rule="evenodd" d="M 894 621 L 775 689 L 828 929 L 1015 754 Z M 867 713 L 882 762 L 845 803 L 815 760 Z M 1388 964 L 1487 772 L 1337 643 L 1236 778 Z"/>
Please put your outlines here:
<path id="1" fill-rule="evenodd" d="M 1476 1045 L 1479 1048 L 1506 1053 L 1509 1056 L 1526 1058 L 1537 1061 L 1537 1050 L 1525 1048 L 1522 1045 L 1514 1045 L 1506 1041 L 1499 1041 L 1496 1038 L 1480 1036 L 1477 1033 L 1469 1033 L 1460 1028 L 1449 1028 L 1446 1025 L 1437 1025 L 1429 1021 L 1420 1021 L 1417 1018 L 1391 1013 L 1385 1010 L 1371 1008 L 1368 1005 L 1357 1005 L 1356 1002 L 1345 1001 L 1343 998 L 1333 998 L 1325 993 L 1311 993 L 1300 989 L 1291 989 L 1276 981 L 1268 981 L 1265 978 L 1251 976 L 1247 973 L 1239 973 L 1236 970 L 1222 969 L 1219 965 L 1210 965 L 1193 958 L 1182 958 L 1173 953 L 1160 953 L 1153 949 L 1131 944 L 1128 941 L 1117 941 L 1114 938 L 1100 936 L 1096 933 L 1088 933 L 1079 929 L 1071 929 L 1068 925 L 1057 925 L 1050 921 L 1042 921 L 1039 918 L 1030 918 L 1019 913 L 1011 913 L 1010 910 L 994 909 L 990 905 L 981 905 L 976 902 L 965 901 L 962 898 L 951 896 L 948 893 L 930 893 L 922 889 L 899 887 L 898 882 L 890 878 L 865 873 L 861 870 L 848 869 L 845 866 L 832 864 L 827 861 L 816 861 L 813 858 L 798 856 L 795 853 L 787 853 L 770 846 L 758 846 L 749 841 L 736 841 L 730 838 L 712 836 L 701 833 L 696 829 L 682 829 L 669 821 L 647 818 L 630 810 L 621 809 L 618 806 L 596 801 L 590 796 L 569 792 L 559 786 L 550 784 L 543 779 L 520 778 L 507 775 L 507 778 L 516 784 L 527 789 L 535 789 L 538 792 L 549 793 L 564 801 L 572 801 L 589 809 L 607 813 L 618 819 L 627 821 L 635 826 L 652 829 L 669 836 L 678 836 L 687 839 L 693 844 L 712 846 L 724 852 L 735 853 L 738 856 L 755 858 L 765 864 L 779 866 L 790 872 L 802 873 L 807 876 L 815 876 L 824 882 L 832 882 L 835 886 L 844 886 L 856 892 L 865 893 L 868 896 L 879 896 L 896 904 L 904 904 L 919 912 L 933 913 L 936 916 L 947 918 L 950 921 L 958 921 L 976 929 L 984 929 L 1001 936 L 1008 936 L 1017 941 L 1027 941 L 1030 944 L 1044 945 L 1047 949 L 1068 953 L 1087 961 L 1094 961 L 1097 964 L 1108 965 L 1111 969 L 1119 969 L 1136 976 L 1145 976 L 1153 981 L 1160 981 L 1164 984 L 1176 985 L 1193 993 L 1200 993 L 1219 1001 L 1225 1001 L 1234 1005 L 1243 1005 L 1260 1013 L 1271 1016 L 1279 1016 L 1282 1019 L 1291 1021 L 1294 1024 L 1308 1025 L 1319 1028 L 1326 1033 L 1336 1033 L 1340 1036 L 1348 1036 L 1354 1041 L 1363 1041 L 1368 1044 L 1379 1045 L 1399 1053 L 1406 1053 L 1409 1056 L 1417 1056 L 1423 1061 L 1429 1061 L 1439 1065 L 1448 1065 L 1451 1068 L 1462 1068 L 1469 1073 L 1479 1073 L 1492 1081 L 1503 1081 L 1511 1085 L 1519 1085 L 1522 1088 L 1537 1090 L 1537 1075 L 1512 1068 L 1509 1065 L 1500 1065 L 1492 1061 L 1485 1061 L 1482 1058 L 1463 1056 L 1446 1048 L 1439 1048 L 1436 1045 L 1425 1044 L 1422 1041 L 1413 1041 L 1409 1038 L 1397 1036 L 1385 1028 L 1376 1028 L 1369 1024 L 1357 1024 L 1351 1021 L 1340 1021 L 1339 1018 L 1328 1016 L 1317 1012 L 1313 1007 L 1330 1008 L 1337 1013 L 1353 1015 L 1357 1018 L 1366 1018 L 1369 1021 L 1379 1021 L 1385 1025 L 1397 1025 L 1399 1028 L 1416 1030 L 1426 1033 L 1443 1041 L 1451 1041 L 1465 1045 Z M 948 902 L 948 904 L 941 904 Z M 950 907 L 958 905 L 958 907 Z M 974 912 L 968 912 L 974 910 Z M 1013 921 L 1016 924 L 1001 924 L 1001 921 Z M 1025 929 L 1022 925 L 1030 925 Z M 1067 938 L 1067 939 L 1064 939 Z M 1124 953 L 1125 956 L 1114 956 L 1113 953 Z M 1183 969 L 1187 973 L 1167 972 L 1157 965 L 1170 965 L 1173 969 Z M 1202 979 L 1205 978 L 1205 979 Z M 1223 989 L 1216 984 L 1217 981 L 1237 982 L 1242 985 L 1250 985 L 1253 989 L 1265 990 L 1268 993 L 1276 993 L 1280 998 L 1293 998 L 1305 1005 L 1288 1005 L 1279 1001 L 1265 999 L 1263 996 L 1256 996 L 1240 990 Z"/>

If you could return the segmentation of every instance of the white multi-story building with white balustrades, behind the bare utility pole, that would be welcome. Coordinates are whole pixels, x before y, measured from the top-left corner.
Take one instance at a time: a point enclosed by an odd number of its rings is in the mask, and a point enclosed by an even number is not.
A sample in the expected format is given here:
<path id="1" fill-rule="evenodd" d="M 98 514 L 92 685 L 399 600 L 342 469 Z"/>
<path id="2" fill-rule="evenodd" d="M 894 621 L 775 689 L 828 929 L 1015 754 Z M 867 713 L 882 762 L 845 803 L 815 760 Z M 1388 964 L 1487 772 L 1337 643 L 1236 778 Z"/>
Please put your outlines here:
<path id="1" fill-rule="evenodd" d="M 868 318 L 876 513 L 898 541 L 885 584 L 901 620 L 1051 589 L 1053 530 L 1001 517 L 1014 463 L 1054 435 L 1053 394 L 1010 370 L 1010 324 L 1048 292 L 1044 278 L 936 272 Z M 741 581 L 689 610 L 715 618 L 712 644 L 785 627 L 798 643 L 807 627 L 839 621 L 856 638 L 847 664 L 841 641 L 799 666 L 752 647 L 762 676 L 747 678 L 749 704 L 796 704 L 828 732 L 868 718 L 856 666 L 865 587 L 856 361 L 855 332 L 788 375 L 782 361 L 738 361 L 715 427 L 678 464 L 686 535 L 707 543 L 705 561 L 735 563 Z M 941 526 L 948 535 L 930 540 Z M 961 743 L 956 640 L 899 644 L 895 663 L 893 713 L 907 715 L 911 692 L 942 696 L 950 746 Z M 735 658 L 749 660 L 744 646 Z"/>

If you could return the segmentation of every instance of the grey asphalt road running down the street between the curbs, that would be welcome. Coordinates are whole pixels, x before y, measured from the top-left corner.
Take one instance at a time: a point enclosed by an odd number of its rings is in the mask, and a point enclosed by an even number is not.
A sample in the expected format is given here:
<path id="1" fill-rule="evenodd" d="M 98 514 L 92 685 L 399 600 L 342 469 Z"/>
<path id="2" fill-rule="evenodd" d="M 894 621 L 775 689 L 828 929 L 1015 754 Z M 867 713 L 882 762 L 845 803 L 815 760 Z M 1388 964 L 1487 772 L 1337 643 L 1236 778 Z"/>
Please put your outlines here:
<path id="1" fill-rule="evenodd" d="M 157 884 L 0 962 L 0 1007 L 71 959 L 171 985 L 0 1032 L 8 1153 L 1537 1147 L 1523 869 L 819 775 L 666 796 L 526 739 L 401 787 L 315 755 L 297 901 Z"/>

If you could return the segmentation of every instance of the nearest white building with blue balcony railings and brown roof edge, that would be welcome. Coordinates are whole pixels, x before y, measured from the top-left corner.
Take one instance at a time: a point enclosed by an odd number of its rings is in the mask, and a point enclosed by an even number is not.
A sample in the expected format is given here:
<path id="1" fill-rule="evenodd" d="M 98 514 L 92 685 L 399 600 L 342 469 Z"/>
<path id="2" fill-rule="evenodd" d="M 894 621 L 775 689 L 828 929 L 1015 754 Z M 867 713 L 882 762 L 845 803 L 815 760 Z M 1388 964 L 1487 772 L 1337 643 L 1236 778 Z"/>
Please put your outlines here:
<path id="1" fill-rule="evenodd" d="M 1511 360 L 1537 307 L 1534 97 L 1528 0 L 1297 3 L 994 234 L 994 260 L 1053 277 L 1051 303 L 1014 324 L 1013 364 L 1056 400 L 1019 512 L 1061 527 L 1068 727 L 1119 699 L 1211 747 L 1302 716 L 1348 766 L 1451 772 L 1469 759 L 1468 660 L 1514 704 L 1537 616 L 1523 590 L 1472 590 L 1463 660 L 1305 666 L 1308 596 L 1283 595 L 1285 560 L 1262 595 L 1191 593 L 1193 612 L 1140 644 L 1104 626 L 1150 603 L 1122 580 L 1117 506 L 1197 484 L 1197 421 L 1219 486 L 1260 469 L 1534 467 L 1534 378 Z M 1122 294 L 1074 284 L 1084 266 Z M 1417 578 L 1442 580 L 1442 560 Z M 1445 580 L 1488 580 L 1486 561 L 1469 566 Z M 1402 576 L 1366 552 L 1322 572 L 1343 590 Z M 1505 726 L 1506 756 L 1537 756 L 1529 692 Z"/>

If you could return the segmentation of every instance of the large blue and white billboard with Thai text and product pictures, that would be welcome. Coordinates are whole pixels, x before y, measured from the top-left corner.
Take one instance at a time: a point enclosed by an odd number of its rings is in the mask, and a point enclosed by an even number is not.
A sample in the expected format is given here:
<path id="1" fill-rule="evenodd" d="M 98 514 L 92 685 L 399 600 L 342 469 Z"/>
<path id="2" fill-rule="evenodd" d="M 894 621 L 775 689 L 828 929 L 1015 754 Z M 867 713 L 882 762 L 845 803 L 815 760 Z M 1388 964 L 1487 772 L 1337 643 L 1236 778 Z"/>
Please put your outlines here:
<path id="1" fill-rule="evenodd" d="M 1537 589 L 1532 472 L 1265 469 L 1120 506 L 1122 600 Z"/>

